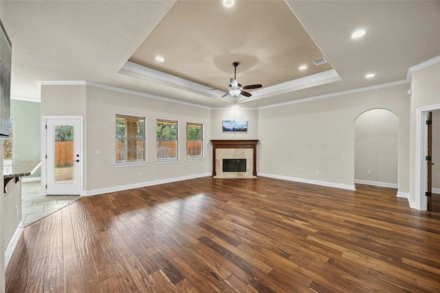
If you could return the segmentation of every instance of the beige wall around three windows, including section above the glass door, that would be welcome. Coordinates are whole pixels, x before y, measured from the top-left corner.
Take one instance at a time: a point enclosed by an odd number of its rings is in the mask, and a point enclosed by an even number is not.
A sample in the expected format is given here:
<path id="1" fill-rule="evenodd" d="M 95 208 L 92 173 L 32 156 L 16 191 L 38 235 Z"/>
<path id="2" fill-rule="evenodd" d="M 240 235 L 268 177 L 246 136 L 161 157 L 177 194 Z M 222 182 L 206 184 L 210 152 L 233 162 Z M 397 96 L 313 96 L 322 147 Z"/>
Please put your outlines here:
<path id="1" fill-rule="evenodd" d="M 210 110 L 87 85 L 43 85 L 42 115 L 84 116 L 85 195 L 197 178 L 212 172 Z M 116 114 L 146 117 L 148 165 L 115 167 Z M 155 161 L 155 119 L 179 121 L 179 162 Z M 186 122 L 204 125 L 203 160 L 186 160 Z M 100 150 L 101 154 L 96 154 Z M 141 175 L 140 175 L 141 174 Z"/>

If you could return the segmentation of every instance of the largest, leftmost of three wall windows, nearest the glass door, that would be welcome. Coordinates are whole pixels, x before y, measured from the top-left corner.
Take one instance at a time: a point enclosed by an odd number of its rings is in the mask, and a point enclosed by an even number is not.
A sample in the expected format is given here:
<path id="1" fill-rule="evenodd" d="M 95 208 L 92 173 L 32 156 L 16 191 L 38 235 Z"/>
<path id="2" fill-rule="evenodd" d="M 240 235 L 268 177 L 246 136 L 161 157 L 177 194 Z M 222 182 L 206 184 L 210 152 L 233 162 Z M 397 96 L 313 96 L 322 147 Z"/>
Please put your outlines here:
<path id="1" fill-rule="evenodd" d="M 116 115 L 116 163 L 145 161 L 145 117 Z"/>

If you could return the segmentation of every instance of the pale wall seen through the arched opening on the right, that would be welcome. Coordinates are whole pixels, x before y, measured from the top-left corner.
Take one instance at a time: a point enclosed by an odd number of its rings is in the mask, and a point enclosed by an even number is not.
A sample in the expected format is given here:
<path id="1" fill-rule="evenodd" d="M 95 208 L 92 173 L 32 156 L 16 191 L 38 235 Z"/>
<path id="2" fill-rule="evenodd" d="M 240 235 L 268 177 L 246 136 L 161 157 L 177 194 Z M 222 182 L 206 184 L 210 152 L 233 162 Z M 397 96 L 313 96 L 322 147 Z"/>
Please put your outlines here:
<path id="1" fill-rule="evenodd" d="M 355 120 L 355 180 L 397 186 L 399 118 L 389 110 L 373 109 Z"/>

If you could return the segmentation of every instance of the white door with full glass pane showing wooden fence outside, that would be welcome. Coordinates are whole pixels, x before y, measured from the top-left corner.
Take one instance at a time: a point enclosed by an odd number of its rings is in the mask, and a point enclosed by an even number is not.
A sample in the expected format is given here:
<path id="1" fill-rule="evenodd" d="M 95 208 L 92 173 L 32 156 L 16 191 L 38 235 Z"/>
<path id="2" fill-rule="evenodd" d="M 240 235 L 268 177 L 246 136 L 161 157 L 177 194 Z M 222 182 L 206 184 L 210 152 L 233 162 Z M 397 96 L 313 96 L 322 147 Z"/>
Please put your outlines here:
<path id="1" fill-rule="evenodd" d="M 81 195 L 82 117 L 46 117 L 46 194 Z"/>

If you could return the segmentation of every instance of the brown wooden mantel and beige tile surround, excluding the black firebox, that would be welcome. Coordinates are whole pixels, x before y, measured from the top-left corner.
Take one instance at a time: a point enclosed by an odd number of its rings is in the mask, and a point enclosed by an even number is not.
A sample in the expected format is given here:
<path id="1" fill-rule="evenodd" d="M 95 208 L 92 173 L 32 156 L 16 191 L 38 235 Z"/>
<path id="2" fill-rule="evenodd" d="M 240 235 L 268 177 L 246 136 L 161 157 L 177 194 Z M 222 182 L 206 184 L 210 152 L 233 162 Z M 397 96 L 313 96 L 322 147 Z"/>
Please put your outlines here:
<path id="1" fill-rule="evenodd" d="M 212 176 L 214 178 L 256 178 L 258 139 L 212 140 Z M 246 172 L 223 172 L 223 159 L 246 159 Z"/>

